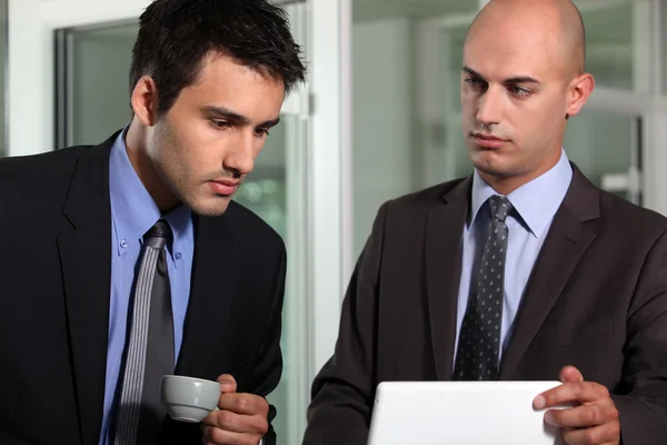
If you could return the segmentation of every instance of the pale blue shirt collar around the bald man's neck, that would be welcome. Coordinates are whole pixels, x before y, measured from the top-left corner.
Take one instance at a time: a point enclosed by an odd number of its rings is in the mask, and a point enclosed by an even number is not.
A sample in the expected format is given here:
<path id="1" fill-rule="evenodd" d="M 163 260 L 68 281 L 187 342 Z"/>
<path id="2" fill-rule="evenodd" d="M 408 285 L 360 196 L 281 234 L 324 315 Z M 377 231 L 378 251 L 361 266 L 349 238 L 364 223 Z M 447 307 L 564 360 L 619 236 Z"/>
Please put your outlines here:
<path id="1" fill-rule="evenodd" d="M 556 166 L 507 196 L 534 236 L 544 235 L 565 199 L 571 179 L 573 168 L 565 150 L 561 149 L 560 159 Z M 472 176 L 472 211 L 468 228 L 477 218 L 481 206 L 494 195 L 497 195 L 496 190 L 481 178 L 476 169 Z"/>

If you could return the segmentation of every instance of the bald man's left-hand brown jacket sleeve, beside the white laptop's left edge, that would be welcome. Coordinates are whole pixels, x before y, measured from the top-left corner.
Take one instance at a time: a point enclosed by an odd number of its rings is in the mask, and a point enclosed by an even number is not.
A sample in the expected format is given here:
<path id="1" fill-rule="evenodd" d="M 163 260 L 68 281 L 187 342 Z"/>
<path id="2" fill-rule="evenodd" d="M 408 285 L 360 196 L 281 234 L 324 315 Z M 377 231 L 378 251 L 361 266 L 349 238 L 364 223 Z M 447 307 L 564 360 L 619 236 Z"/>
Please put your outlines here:
<path id="1" fill-rule="evenodd" d="M 312 384 L 303 445 L 368 442 L 376 392 L 378 277 L 388 206 L 379 209 L 348 286 L 334 356 Z"/>

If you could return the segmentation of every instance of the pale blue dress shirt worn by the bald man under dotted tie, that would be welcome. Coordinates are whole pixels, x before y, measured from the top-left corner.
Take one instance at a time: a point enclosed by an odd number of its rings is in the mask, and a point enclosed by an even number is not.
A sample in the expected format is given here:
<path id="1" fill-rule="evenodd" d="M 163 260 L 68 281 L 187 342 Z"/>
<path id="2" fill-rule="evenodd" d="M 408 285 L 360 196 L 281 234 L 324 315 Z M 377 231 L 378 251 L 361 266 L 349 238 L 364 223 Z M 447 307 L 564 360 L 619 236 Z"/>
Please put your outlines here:
<path id="1" fill-rule="evenodd" d="M 509 230 L 509 243 L 505 261 L 505 298 L 500 329 L 502 348 L 500 356 L 509 345 L 514 320 L 526 283 L 571 179 L 573 168 L 565 150 L 561 150 L 560 160 L 554 168 L 507 196 L 516 212 L 509 214 L 506 220 Z M 464 228 L 464 257 L 456 319 L 456 348 L 458 348 L 458 336 L 466 314 L 468 298 L 475 293 L 472 284 L 476 283 L 478 273 L 476 268 L 487 237 L 486 230 L 490 217 L 487 200 L 494 195 L 498 194 L 479 176 L 478 171 L 475 171 L 470 218 Z"/>

